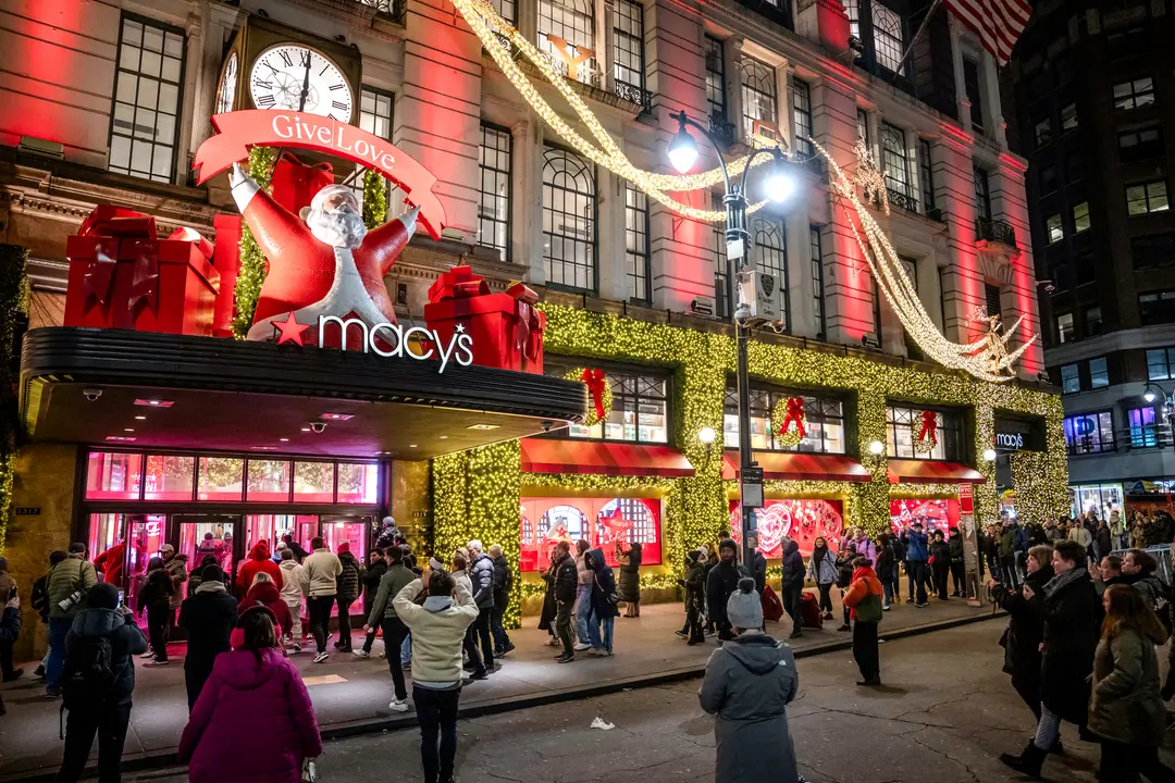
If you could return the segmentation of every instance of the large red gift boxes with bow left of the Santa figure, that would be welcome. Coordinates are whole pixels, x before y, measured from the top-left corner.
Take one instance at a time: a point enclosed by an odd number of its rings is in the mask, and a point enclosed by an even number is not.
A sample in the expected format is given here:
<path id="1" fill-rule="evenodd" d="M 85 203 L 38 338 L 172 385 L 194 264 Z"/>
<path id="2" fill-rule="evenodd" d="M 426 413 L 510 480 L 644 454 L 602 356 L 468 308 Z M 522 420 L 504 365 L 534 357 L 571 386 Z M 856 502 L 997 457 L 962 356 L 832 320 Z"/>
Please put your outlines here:
<path id="1" fill-rule="evenodd" d="M 213 244 L 194 229 L 160 239 L 150 215 L 102 204 L 67 239 L 66 256 L 66 326 L 213 333 L 220 274 Z"/>

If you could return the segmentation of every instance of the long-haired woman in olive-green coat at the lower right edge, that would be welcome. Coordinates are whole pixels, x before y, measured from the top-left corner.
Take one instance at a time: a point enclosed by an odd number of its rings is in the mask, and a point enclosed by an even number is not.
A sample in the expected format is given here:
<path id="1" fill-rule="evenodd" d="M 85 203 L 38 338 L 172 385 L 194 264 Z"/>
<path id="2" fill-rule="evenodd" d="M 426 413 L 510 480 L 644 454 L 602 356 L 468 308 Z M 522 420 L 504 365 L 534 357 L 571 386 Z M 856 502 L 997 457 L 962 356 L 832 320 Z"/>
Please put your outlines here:
<path id="1" fill-rule="evenodd" d="M 1102 596 L 1106 620 L 1094 653 L 1089 730 L 1101 740 L 1099 783 L 1175 781 L 1159 761 L 1167 714 L 1159 695 L 1155 646 L 1167 629 L 1129 585 L 1112 585 Z"/>

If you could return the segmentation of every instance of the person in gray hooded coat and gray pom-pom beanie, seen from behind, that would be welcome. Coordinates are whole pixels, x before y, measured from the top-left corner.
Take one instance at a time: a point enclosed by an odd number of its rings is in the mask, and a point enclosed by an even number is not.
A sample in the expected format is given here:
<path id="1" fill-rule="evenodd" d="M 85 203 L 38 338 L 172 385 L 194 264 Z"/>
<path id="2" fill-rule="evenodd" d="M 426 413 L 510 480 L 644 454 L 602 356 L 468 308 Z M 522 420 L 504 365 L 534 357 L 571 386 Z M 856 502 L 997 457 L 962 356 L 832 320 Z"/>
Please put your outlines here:
<path id="1" fill-rule="evenodd" d="M 698 700 L 717 715 L 714 783 L 798 783 L 787 704 L 799 690 L 795 656 L 759 630 L 763 605 L 745 576 L 726 602 L 738 636 L 713 652 Z"/>

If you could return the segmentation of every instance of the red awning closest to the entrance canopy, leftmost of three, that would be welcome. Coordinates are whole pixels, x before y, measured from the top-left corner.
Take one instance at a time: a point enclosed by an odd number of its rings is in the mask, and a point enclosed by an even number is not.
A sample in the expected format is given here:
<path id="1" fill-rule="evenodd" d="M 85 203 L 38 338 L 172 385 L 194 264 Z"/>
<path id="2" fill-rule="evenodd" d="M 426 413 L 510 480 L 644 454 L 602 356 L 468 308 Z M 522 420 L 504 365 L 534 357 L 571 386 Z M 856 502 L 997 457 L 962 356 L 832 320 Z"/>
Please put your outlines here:
<path id="1" fill-rule="evenodd" d="M 679 479 L 693 475 L 693 465 L 670 446 L 523 438 L 522 471 Z"/>

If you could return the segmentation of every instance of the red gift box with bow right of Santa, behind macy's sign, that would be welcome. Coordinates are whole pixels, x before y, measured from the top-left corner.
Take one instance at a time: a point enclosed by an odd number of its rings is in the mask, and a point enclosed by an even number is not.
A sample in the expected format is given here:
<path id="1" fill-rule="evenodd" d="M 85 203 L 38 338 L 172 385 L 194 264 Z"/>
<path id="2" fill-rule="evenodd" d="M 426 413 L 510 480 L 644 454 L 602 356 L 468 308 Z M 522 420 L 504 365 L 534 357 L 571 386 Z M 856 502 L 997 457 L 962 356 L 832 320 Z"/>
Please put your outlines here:
<path id="1" fill-rule="evenodd" d="M 485 278 L 454 266 L 429 288 L 424 322 L 442 345 L 459 325 L 472 338 L 474 364 L 542 374 L 546 316 L 537 304 L 538 295 L 522 283 L 490 293 Z"/>

